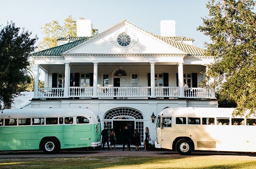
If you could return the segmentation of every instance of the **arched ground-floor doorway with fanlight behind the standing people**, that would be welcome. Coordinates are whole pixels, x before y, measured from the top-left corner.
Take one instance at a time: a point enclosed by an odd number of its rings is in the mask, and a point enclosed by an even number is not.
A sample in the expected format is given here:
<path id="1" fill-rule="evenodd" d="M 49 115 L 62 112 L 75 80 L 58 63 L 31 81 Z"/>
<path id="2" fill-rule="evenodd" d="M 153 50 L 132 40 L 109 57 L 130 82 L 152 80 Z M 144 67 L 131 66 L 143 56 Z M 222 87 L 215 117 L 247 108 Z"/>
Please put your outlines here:
<path id="1" fill-rule="evenodd" d="M 141 136 L 141 142 L 144 141 L 144 117 L 139 110 L 130 107 L 119 107 L 107 111 L 104 115 L 103 124 L 107 125 L 110 129 L 114 129 L 117 144 L 122 144 L 122 131 L 124 126 L 129 126 L 131 136 L 134 129 L 138 129 Z"/>

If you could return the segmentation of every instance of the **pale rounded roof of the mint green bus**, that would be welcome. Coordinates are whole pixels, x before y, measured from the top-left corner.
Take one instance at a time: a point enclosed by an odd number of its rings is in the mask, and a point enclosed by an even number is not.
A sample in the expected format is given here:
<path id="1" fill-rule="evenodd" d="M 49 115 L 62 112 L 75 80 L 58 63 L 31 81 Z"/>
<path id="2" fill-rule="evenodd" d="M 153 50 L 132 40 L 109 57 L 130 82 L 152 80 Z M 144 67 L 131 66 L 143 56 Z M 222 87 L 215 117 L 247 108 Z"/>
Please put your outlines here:
<path id="1" fill-rule="evenodd" d="M 5 109 L 0 113 L 0 118 L 22 117 L 67 117 L 85 116 L 97 123 L 97 114 L 88 108 L 48 108 L 48 109 Z"/>

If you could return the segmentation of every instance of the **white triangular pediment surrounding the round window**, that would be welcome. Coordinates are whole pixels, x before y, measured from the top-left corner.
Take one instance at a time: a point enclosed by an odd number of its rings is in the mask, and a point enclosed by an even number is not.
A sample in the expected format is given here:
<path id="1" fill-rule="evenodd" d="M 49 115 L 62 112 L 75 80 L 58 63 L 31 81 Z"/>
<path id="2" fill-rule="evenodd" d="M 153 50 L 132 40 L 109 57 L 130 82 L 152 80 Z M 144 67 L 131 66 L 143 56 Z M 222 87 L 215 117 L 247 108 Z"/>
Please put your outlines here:
<path id="1" fill-rule="evenodd" d="M 127 47 L 117 42 L 120 34 L 131 38 Z M 150 33 L 129 22 L 123 21 L 108 30 L 98 33 L 63 54 L 186 54 L 180 49 L 163 42 Z"/>

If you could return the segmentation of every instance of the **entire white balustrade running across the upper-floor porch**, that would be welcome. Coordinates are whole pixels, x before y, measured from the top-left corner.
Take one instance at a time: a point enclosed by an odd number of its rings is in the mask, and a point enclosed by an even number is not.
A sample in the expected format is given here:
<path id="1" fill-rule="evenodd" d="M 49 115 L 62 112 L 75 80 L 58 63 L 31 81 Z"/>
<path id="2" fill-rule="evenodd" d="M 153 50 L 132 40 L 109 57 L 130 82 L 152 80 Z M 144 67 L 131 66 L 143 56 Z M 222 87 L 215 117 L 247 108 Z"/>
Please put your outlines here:
<path id="1" fill-rule="evenodd" d="M 210 99 L 211 93 L 205 88 L 185 88 L 185 98 Z M 63 98 L 64 88 L 39 88 L 38 98 Z M 155 87 L 154 96 L 151 87 L 97 87 L 93 95 L 93 87 L 68 87 L 68 97 L 182 97 L 180 87 Z M 184 96 L 183 96 L 184 98 Z"/>

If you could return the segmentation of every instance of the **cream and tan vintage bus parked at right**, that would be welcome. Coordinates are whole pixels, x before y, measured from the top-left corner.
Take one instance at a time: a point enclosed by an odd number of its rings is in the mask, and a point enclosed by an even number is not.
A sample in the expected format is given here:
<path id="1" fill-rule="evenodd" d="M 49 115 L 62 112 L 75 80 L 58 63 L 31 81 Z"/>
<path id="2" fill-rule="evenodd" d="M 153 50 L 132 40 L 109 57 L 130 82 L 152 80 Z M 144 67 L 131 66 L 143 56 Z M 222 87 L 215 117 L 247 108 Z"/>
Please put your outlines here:
<path id="1" fill-rule="evenodd" d="M 167 108 L 158 115 L 156 148 L 181 155 L 194 150 L 256 152 L 256 117 L 232 117 L 231 108 Z"/>

